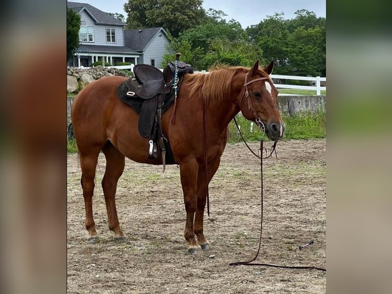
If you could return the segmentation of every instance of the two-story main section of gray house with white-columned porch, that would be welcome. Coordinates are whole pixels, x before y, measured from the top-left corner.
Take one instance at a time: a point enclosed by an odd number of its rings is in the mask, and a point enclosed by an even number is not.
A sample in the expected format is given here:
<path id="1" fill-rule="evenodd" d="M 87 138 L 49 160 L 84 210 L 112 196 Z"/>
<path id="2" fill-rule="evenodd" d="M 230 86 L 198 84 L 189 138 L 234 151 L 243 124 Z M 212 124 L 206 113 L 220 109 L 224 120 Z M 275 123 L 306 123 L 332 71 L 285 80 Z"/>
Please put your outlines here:
<path id="1" fill-rule="evenodd" d="M 80 46 L 74 54 L 75 58 L 71 58 L 67 66 L 91 67 L 95 61 L 102 59 L 111 65 L 116 65 L 117 62 L 138 64 L 143 53 L 124 45 L 125 23 L 90 4 L 67 4 L 68 8 L 76 11 L 81 18 Z"/>

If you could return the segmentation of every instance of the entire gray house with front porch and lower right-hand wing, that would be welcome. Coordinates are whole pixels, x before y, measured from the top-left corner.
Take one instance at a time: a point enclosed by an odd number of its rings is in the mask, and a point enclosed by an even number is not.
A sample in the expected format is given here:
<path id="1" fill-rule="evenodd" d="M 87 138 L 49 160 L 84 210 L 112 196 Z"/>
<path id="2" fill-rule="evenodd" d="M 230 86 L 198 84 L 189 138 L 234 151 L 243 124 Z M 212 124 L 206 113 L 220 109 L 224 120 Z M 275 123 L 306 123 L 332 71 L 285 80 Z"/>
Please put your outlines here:
<path id="1" fill-rule="evenodd" d="M 91 67 L 98 60 L 161 67 L 170 44 L 163 28 L 124 30 L 125 23 L 87 3 L 67 2 L 81 17 L 80 46 L 67 66 Z"/>

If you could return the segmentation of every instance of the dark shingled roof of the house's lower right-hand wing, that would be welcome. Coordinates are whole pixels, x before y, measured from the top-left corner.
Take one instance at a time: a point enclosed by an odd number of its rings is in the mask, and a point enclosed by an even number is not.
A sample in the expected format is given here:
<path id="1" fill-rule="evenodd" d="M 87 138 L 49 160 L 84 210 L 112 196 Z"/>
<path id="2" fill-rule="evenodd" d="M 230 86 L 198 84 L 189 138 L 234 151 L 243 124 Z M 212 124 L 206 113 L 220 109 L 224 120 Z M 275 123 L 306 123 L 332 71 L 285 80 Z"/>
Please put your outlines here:
<path id="1" fill-rule="evenodd" d="M 156 35 L 163 33 L 166 37 L 166 31 L 162 28 L 149 28 L 140 30 L 124 30 L 124 44 L 135 51 L 144 51 Z"/>

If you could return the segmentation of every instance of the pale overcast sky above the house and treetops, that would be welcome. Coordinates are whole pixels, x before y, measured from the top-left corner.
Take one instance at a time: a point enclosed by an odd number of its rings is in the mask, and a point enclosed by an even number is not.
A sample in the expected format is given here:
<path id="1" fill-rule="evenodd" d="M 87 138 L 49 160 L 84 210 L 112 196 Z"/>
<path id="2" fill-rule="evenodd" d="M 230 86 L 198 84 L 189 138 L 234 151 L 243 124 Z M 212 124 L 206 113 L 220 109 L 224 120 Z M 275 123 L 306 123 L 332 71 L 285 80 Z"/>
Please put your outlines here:
<path id="1" fill-rule="evenodd" d="M 88 3 L 105 12 L 121 13 L 126 18 L 124 4 L 127 0 L 80 0 L 73 2 Z M 300 9 L 313 11 L 317 17 L 325 17 L 326 0 L 204 0 L 205 10 L 213 8 L 227 14 L 226 19 L 235 19 L 245 29 L 257 25 L 268 15 L 275 12 L 285 13 L 285 18 L 294 18 Z"/>

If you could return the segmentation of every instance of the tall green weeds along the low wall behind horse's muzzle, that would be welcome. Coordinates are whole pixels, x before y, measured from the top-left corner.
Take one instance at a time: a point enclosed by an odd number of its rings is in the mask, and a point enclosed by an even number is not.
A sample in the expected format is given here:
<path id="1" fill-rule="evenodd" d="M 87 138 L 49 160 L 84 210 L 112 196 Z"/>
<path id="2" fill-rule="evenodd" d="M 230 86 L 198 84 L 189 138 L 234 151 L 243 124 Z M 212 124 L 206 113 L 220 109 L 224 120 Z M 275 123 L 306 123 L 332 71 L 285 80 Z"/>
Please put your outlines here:
<path id="1" fill-rule="evenodd" d="M 281 116 L 286 124 L 284 139 L 316 139 L 326 136 L 326 115 L 323 108 L 316 112 L 301 112 L 294 115 L 282 113 Z M 259 141 L 262 138 L 263 133 L 255 125 L 253 132 L 250 131 L 251 122 L 242 115 L 237 115 L 236 120 L 246 141 Z M 269 140 L 267 135 L 263 139 Z M 228 142 L 242 142 L 234 121 L 230 121 L 229 124 Z"/>

